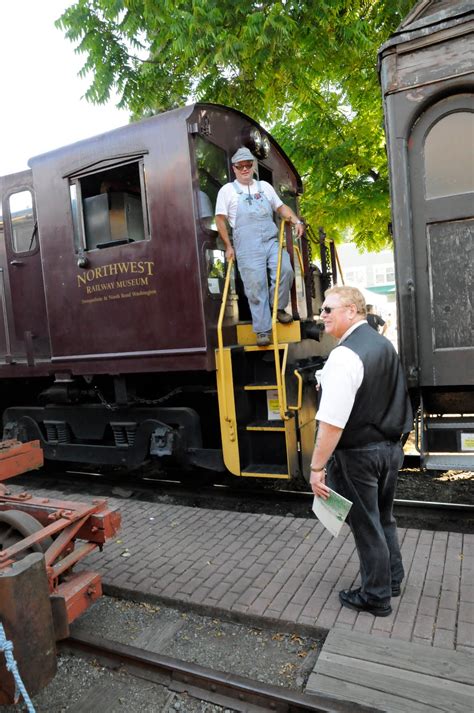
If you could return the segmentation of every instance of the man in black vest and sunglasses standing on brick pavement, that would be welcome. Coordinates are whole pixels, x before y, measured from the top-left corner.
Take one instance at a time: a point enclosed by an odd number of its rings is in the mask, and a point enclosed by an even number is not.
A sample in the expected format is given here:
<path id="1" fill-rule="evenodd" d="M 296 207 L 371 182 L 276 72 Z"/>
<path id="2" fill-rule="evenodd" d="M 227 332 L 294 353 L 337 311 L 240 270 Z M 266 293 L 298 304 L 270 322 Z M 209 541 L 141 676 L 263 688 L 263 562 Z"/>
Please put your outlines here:
<path id="1" fill-rule="evenodd" d="M 327 290 L 321 314 L 325 331 L 339 344 L 320 376 L 310 483 L 317 497 L 327 498 L 327 474 L 329 486 L 353 503 L 347 522 L 361 586 L 340 592 L 341 604 L 388 616 L 404 577 L 393 500 L 403 462 L 400 438 L 413 425 L 410 399 L 398 355 L 368 325 L 359 290 Z"/>

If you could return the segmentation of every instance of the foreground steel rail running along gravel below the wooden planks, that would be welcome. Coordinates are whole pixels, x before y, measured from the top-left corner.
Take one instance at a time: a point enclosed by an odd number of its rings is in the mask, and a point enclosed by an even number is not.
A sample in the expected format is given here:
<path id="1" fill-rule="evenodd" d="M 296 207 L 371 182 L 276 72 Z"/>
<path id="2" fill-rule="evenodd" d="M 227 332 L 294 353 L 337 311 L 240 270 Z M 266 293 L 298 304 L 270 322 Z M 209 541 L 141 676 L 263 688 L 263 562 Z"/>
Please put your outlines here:
<path id="1" fill-rule="evenodd" d="M 113 666 L 120 664 L 130 675 L 153 676 L 156 683 L 177 692 L 188 692 L 195 698 L 211 702 L 223 696 L 232 701 L 234 710 L 275 711 L 276 713 L 375 713 L 378 709 L 352 701 L 341 701 L 323 694 L 304 694 L 281 686 L 214 671 L 195 663 L 139 649 L 90 634 L 75 634 L 59 642 L 60 651 L 81 653 Z M 123 669 L 122 669 L 123 670 Z M 138 673 L 137 673 L 138 670 Z M 378 711 L 380 713 L 380 711 Z"/>

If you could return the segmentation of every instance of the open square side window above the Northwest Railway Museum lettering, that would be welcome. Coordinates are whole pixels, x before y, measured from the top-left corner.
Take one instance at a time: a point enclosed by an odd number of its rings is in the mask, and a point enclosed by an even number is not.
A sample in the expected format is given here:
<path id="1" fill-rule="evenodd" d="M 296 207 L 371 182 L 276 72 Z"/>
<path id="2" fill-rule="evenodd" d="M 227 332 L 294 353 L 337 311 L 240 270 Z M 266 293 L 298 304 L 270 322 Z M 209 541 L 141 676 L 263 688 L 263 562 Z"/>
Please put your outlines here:
<path id="1" fill-rule="evenodd" d="M 76 252 L 149 240 L 143 162 L 70 177 Z"/>

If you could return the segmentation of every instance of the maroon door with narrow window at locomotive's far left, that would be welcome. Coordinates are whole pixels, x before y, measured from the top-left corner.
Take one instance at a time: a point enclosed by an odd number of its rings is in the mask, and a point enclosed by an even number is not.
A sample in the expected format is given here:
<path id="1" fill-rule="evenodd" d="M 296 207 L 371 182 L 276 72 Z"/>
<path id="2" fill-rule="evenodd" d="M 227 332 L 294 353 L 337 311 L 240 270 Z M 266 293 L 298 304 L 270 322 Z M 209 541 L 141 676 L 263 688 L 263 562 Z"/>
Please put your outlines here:
<path id="1" fill-rule="evenodd" d="M 6 361 L 49 355 L 41 251 L 31 171 L 2 181 L 0 297 Z"/>

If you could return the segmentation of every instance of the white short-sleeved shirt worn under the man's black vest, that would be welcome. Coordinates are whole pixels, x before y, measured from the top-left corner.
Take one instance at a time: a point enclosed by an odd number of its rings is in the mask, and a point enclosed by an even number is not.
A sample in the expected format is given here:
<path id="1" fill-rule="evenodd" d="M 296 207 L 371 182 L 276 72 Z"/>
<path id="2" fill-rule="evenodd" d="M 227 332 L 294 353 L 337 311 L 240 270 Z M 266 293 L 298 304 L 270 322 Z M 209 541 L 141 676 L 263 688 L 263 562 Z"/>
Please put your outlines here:
<path id="1" fill-rule="evenodd" d="M 361 324 L 367 324 L 367 321 L 363 319 L 350 327 L 341 337 L 339 344 Z M 344 346 L 333 349 L 321 371 L 322 396 L 316 414 L 317 420 L 344 428 L 363 378 L 364 365 L 358 354 Z"/>

